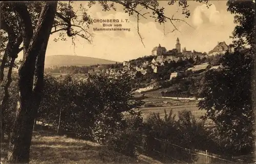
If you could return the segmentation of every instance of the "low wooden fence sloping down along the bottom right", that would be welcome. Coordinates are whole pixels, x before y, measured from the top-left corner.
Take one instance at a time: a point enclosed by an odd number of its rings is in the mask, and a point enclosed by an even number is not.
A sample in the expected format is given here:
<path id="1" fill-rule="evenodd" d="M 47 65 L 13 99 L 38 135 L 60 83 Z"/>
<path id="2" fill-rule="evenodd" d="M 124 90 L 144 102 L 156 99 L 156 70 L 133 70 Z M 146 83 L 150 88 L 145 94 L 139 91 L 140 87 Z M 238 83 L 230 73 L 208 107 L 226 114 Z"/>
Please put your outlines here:
<path id="1" fill-rule="evenodd" d="M 154 144 L 151 142 L 151 144 L 147 145 L 149 143 L 148 140 L 154 140 Z M 150 139 L 145 135 L 143 135 L 142 145 L 135 146 L 140 153 L 158 156 L 161 160 L 167 160 L 172 163 L 243 163 L 242 160 L 234 159 L 233 157 L 210 153 L 207 150 L 191 150 L 157 138 Z"/>

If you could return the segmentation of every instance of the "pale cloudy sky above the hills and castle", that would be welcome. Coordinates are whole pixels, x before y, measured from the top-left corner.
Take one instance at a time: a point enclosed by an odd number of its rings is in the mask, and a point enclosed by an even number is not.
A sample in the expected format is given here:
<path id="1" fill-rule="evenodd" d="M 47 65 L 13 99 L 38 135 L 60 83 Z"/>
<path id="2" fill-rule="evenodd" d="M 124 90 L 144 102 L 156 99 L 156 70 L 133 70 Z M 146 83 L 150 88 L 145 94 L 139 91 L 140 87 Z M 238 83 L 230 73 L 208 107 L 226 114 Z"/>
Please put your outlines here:
<path id="1" fill-rule="evenodd" d="M 82 4 L 87 6 L 88 2 L 77 1 L 75 7 Z M 102 7 L 97 4 L 88 10 L 93 19 L 127 19 L 129 22 L 112 23 L 121 24 L 122 28 L 130 28 L 131 31 L 93 31 L 93 28 L 105 28 L 102 23 L 93 23 L 88 30 L 93 34 L 92 43 L 77 37 L 76 46 L 72 45 L 70 38 L 67 41 L 54 42 L 57 33 L 50 36 L 47 56 L 51 55 L 77 55 L 93 58 L 107 59 L 117 62 L 136 59 L 151 55 L 154 47 L 161 44 L 167 50 L 175 48 L 176 39 L 179 38 L 181 48 L 186 50 L 196 50 L 208 52 L 213 49 L 218 42 L 225 41 L 231 43 L 229 36 L 234 26 L 233 15 L 226 11 L 226 1 L 210 1 L 209 8 L 205 4 L 188 1 L 190 16 L 185 18 L 181 14 L 182 8 L 178 4 L 168 6 L 166 1 L 159 1 L 160 6 L 165 7 L 165 15 L 168 17 L 183 19 L 185 22 L 174 22 L 179 31 L 172 32 L 174 26 L 167 21 L 164 25 L 146 14 L 145 18 L 140 18 L 139 32 L 143 38 L 143 43 L 137 33 L 137 17 L 124 13 L 123 7 L 116 4 L 116 11 L 102 11 Z M 142 10 L 141 13 L 148 12 Z M 189 24 L 189 25 L 188 25 Z"/>

